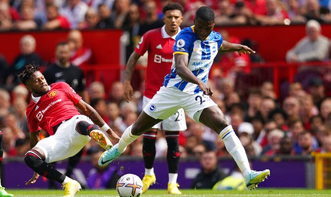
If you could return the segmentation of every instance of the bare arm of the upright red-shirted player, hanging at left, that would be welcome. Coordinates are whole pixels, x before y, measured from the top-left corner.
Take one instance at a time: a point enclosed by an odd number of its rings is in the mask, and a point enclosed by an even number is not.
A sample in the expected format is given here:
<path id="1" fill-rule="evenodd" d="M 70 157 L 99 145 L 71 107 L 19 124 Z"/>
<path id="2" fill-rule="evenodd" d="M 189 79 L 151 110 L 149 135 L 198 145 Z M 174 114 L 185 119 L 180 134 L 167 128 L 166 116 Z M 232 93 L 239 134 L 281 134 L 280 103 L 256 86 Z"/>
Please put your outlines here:
<path id="1" fill-rule="evenodd" d="M 136 66 L 139 58 L 140 58 L 140 55 L 138 55 L 135 51 L 133 51 L 126 63 L 125 80 L 124 80 L 124 99 L 126 102 L 131 101 L 132 96 L 133 96 L 131 78 L 132 78 L 132 74 L 134 71 L 134 67 Z"/>

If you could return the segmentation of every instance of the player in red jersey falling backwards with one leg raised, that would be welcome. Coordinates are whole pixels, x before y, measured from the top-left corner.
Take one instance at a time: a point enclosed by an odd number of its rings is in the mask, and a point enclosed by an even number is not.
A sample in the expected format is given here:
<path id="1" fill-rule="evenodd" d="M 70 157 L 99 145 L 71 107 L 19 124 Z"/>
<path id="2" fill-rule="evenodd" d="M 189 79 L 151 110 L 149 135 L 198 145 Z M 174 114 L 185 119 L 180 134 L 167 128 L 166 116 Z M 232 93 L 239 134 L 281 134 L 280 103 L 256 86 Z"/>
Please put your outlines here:
<path id="1" fill-rule="evenodd" d="M 26 185 L 35 183 L 41 175 L 61 183 L 65 189 L 65 197 L 73 197 L 81 189 L 81 185 L 61 174 L 49 163 L 77 154 L 91 138 L 104 149 L 111 148 L 112 143 L 101 129 L 112 139 L 119 139 L 119 136 L 67 83 L 48 85 L 39 66 L 25 66 L 18 77 L 32 92 L 33 99 L 27 107 L 31 150 L 26 153 L 24 161 L 35 174 Z M 41 129 L 50 136 L 40 140 Z"/>

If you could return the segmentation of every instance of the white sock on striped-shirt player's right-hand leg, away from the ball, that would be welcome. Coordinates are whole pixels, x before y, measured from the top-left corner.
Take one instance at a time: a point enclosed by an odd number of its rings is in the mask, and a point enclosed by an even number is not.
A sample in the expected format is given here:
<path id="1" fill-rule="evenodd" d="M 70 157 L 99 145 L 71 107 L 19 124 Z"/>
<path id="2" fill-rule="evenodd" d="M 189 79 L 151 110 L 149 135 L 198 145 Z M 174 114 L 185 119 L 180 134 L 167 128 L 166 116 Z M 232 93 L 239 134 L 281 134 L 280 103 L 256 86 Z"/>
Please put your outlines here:
<path id="1" fill-rule="evenodd" d="M 231 125 L 224 128 L 219 136 L 223 139 L 226 150 L 230 153 L 233 159 L 236 161 L 239 169 L 242 171 L 244 177 L 248 176 L 250 166 L 245 149 L 240 142 L 238 136 Z"/>

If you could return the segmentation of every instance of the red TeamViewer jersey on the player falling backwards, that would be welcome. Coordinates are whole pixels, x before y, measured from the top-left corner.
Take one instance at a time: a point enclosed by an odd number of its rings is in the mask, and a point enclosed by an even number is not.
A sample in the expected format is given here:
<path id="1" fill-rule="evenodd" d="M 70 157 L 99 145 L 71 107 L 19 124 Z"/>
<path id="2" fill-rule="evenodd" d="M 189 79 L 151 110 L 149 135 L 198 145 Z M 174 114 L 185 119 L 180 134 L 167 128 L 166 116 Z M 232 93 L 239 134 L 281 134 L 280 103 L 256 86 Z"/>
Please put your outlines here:
<path id="1" fill-rule="evenodd" d="M 68 120 L 80 112 L 75 107 L 82 97 L 64 82 L 53 83 L 47 94 L 32 96 L 33 101 L 27 107 L 30 132 L 41 129 L 53 135 L 53 127 Z"/>

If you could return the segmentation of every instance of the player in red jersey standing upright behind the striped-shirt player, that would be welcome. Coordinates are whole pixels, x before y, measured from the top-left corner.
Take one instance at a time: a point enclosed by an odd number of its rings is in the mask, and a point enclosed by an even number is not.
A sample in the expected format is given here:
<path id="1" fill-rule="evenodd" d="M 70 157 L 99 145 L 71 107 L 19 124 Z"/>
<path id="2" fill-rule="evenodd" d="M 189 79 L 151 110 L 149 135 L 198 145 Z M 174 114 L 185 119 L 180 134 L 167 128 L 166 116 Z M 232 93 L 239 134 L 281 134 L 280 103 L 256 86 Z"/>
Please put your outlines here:
<path id="1" fill-rule="evenodd" d="M 176 35 L 180 32 L 180 24 L 183 21 L 183 7 L 178 3 L 168 3 L 163 8 L 165 25 L 145 33 L 131 54 L 126 64 L 124 81 L 124 99 L 131 100 L 133 90 L 131 77 L 134 67 L 140 58 L 148 51 L 148 64 L 146 69 L 145 91 L 143 107 L 153 98 L 160 87 L 163 86 L 164 77 L 170 72 L 173 58 L 172 47 Z M 145 176 L 142 179 L 143 193 L 156 181 L 153 163 L 155 159 L 155 141 L 157 130 L 165 130 L 167 142 L 166 161 L 169 170 L 168 193 L 181 194 L 178 190 L 177 171 L 179 163 L 178 135 L 179 131 L 186 130 L 185 114 L 179 109 L 173 116 L 155 125 L 150 131 L 143 134 L 143 157 L 145 163 Z"/>

